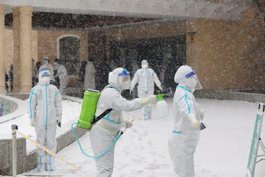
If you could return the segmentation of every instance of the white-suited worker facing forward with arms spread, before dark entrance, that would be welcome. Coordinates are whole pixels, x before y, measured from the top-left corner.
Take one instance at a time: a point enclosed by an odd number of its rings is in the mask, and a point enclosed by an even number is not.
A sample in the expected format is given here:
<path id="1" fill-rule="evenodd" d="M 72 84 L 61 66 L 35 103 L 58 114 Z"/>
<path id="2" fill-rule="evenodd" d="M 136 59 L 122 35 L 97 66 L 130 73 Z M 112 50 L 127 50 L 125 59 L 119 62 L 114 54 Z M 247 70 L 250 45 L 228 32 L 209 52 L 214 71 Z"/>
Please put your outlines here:
<path id="1" fill-rule="evenodd" d="M 130 88 L 130 94 L 132 93 L 134 86 L 138 83 L 137 91 L 139 98 L 146 98 L 149 95 L 154 94 L 154 82 L 158 88 L 163 91 L 161 87 L 161 82 L 159 81 L 155 71 L 148 68 L 148 61 L 143 60 L 141 62 L 142 68 L 138 69 L 134 74 L 132 80 L 132 87 Z M 152 117 L 152 104 L 148 104 L 142 108 L 142 114 L 144 120 L 151 119 Z"/>

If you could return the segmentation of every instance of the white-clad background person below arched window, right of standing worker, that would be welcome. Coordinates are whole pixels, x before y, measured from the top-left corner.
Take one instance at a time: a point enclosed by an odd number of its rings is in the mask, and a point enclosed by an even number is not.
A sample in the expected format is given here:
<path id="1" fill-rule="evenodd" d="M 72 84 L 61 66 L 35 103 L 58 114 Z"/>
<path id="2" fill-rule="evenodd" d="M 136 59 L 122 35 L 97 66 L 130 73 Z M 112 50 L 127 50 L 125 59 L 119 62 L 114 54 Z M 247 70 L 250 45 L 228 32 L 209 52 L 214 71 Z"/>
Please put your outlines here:
<path id="1" fill-rule="evenodd" d="M 60 88 L 59 91 L 61 95 L 65 95 L 65 88 L 68 84 L 69 76 L 67 74 L 67 70 L 65 66 L 60 64 L 60 60 L 55 60 L 53 63 L 53 68 L 57 70 L 57 75 L 55 77 L 59 77 L 60 80 Z"/>

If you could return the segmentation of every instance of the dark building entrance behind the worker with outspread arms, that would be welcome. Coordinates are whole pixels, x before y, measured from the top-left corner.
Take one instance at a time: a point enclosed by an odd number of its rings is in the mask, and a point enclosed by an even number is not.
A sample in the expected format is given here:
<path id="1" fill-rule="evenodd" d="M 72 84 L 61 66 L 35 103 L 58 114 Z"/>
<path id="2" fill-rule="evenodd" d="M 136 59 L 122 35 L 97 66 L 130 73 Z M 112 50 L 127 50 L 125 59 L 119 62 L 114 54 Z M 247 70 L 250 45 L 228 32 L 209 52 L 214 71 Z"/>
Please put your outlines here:
<path id="1" fill-rule="evenodd" d="M 117 67 L 124 67 L 133 77 L 133 67 L 141 67 L 143 59 L 159 75 L 160 66 L 166 66 L 168 58 L 172 64 L 186 64 L 186 36 L 110 41 L 110 60 Z M 176 71 L 175 71 L 176 72 Z"/>

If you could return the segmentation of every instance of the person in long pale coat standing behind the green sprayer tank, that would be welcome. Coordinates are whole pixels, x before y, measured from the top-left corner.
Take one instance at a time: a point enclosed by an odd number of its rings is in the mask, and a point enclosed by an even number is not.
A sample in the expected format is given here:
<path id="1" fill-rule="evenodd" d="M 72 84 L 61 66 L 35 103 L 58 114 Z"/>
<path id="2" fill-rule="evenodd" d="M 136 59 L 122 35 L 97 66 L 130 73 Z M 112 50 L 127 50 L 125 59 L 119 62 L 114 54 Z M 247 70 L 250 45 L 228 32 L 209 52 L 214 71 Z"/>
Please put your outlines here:
<path id="1" fill-rule="evenodd" d="M 83 88 L 84 92 L 87 89 L 93 89 L 93 90 L 96 89 L 95 73 L 96 73 L 96 70 L 93 64 L 93 59 L 89 58 L 88 63 L 85 66 L 85 79 L 84 79 L 84 88 Z"/>

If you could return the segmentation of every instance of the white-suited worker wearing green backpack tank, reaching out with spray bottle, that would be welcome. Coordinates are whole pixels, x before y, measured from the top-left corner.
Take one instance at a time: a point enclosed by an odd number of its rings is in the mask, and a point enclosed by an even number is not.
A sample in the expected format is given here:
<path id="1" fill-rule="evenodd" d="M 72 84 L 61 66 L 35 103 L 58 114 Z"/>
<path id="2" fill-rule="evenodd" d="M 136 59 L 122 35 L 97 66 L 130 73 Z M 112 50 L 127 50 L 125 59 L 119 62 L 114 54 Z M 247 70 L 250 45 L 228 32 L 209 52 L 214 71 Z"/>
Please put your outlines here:
<path id="1" fill-rule="evenodd" d="M 89 138 L 94 156 L 99 156 L 111 147 L 120 131 L 132 127 L 133 124 L 123 118 L 122 111 L 134 111 L 148 103 L 156 103 L 157 97 L 150 95 L 148 98 L 136 98 L 132 101 L 121 96 L 121 91 L 129 89 L 131 85 L 130 72 L 124 68 L 116 68 L 109 73 L 109 85 L 107 85 L 98 99 L 95 117 L 101 115 L 107 109 L 113 109 L 97 123 L 93 124 Z M 120 142 L 121 143 L 121 142 Z M 95 158 L 97 177 L 111 177 L 113 173 L 115 144 L 106 154 Z"/>

